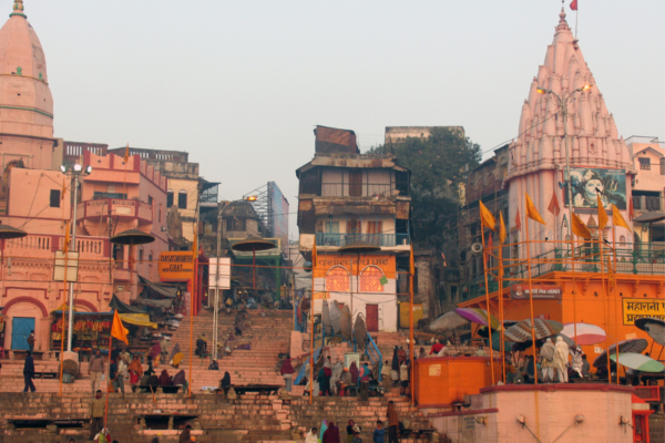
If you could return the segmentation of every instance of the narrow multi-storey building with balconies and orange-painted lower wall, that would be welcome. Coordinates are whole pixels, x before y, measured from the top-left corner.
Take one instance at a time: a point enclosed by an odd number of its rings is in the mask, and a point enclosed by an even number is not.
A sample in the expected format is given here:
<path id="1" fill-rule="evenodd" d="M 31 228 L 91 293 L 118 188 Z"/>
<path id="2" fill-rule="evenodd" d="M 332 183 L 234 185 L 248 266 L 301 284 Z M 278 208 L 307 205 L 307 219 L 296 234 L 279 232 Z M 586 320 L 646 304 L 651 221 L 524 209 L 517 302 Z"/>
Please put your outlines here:
<path id="1" fill-rule="evenodd" d="M 360 154 L 352 131 L 317 126 L 314 159 L 296 171 L 299 250 L 316 241 L 315 311 L 323 299 L 352 307 L 369 331 L 396 331 L 399 268 L 408 269 L 411 197 L 409 171 L 391 155 Z M 360 257 L 338 249 L 361 240 L 380 251 Z M 406 260 L 406 264 L 405 264 Z M 354 288 L 354 296 L 350 288 Z"/>

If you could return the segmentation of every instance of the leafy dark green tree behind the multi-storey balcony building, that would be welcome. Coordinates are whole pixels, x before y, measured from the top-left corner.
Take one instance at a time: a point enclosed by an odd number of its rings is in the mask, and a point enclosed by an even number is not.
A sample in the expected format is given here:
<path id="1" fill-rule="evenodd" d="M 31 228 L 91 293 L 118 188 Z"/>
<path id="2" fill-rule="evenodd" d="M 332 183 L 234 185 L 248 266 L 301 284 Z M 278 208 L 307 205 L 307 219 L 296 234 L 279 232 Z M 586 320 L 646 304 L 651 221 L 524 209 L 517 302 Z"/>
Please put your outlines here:
<path id="1" fill-rule="evenodd" d="M 458 131 L 434 127 L 427 138 L 372 146 L 368 154 L 393 154 L 411 171 L 411 220 L 418 245 L 440 249 L 444 237 L 458 237 L 461 185 L 467 171 L 480 163 L 479 145 Z"/>

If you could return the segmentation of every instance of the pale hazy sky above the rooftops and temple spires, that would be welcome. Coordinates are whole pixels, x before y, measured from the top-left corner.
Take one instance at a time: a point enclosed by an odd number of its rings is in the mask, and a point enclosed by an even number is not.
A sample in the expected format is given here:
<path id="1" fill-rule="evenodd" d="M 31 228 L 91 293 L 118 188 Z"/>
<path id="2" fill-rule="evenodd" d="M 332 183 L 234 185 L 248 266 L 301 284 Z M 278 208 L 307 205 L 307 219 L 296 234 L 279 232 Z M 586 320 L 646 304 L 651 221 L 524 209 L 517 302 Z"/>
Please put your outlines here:
<path id="1" fill-rule="evenodd" d="M 0 1 L 8 14 L 12 3 Z M 665 2 L 579 3 L 580 45 L 620 134 L 665 138 Z M 187 151 L 222 182 L 222 197 L 275 181 L 291 212 L 317 124 L 356 131 L 362 151 L 386 126 L 462 125 L 483 151 L 514 137 L 561 9 L 556 0 L 24 6 L 47 54 L 58 137 Z"/>

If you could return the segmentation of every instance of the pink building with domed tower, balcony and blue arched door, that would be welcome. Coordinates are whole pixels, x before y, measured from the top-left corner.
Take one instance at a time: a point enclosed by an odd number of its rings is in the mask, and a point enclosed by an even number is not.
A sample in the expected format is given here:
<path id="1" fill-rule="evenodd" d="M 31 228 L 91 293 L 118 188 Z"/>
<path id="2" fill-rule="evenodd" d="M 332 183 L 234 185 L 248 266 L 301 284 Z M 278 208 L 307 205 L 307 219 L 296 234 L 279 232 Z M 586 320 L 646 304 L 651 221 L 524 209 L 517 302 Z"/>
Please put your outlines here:
<path id="1" fill-rule="evenodd" d="M 122 156 L 105 155 L 105 145 L 68 143 L 63 152 L 65 143 L 53 137 L 44 53 L 20 0 L 0 29 L 0 220 L 28 233 L 2 245 L 0 347 L 27 349 L 25 338 L 34 329 L 35 350 L 48 351 L 51 312 L 69 296 L 69 288 L 65 291 L 62 282 L 53 281 L 54 254 L 63 247 L 73 200 L 73 182 L 60 172 L 60 165 L 93 168 L 91 175 L 81 176 L 76 202 L 80 265 L 73 285 L 78 311 L 109 311 L 113 295 L 130 302 L 136 297 L 139 275 L 157 280 L 156 262 L 150 261 L 168 249 L 166 178 L 137 155 L 130 156 L 126 165 Z M 156 238 L 134 247 L 132 271 L 129 248 L 110 243 L 126 229 Z"/>

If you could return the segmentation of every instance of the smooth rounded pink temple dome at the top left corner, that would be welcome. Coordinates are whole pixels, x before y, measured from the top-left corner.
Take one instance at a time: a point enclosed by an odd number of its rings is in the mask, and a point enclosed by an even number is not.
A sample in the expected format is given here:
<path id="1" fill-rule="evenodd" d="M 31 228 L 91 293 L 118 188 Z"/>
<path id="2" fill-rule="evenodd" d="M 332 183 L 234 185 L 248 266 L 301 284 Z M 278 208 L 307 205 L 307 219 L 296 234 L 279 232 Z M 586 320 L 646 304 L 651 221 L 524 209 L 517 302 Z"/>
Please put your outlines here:
<path id="1" fill-rule="evenodd" d="M 34 29 L 16 0 L 0 29 L 0 132 L 53 136 L 53 97 L 47 59 Z"/>

